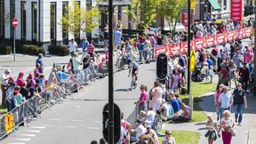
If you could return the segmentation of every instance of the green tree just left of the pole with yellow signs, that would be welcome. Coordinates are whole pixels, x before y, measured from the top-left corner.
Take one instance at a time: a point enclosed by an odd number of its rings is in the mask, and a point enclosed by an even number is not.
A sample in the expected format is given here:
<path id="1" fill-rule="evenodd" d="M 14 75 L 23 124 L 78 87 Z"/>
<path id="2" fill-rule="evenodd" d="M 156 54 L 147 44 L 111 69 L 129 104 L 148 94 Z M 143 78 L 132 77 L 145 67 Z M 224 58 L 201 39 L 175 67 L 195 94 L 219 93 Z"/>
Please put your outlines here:
<path id="1" fill-rule="evenodd" d="M 187 6 L 188 0 L 160 0 L 158 14 L 164 16 L 172 33 L 175 32 L 177 22 L 180 19 L 180 9 L 187 8 Z"/>

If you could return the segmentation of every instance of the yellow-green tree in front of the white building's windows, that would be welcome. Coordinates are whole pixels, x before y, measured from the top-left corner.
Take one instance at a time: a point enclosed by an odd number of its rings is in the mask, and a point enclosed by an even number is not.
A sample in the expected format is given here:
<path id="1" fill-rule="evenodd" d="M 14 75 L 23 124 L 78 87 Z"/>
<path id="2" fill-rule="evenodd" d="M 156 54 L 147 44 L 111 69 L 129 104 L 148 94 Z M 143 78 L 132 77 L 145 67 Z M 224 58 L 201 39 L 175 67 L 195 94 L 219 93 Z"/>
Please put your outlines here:
<path id="1" fill-rule="evenodd" d="M 66 5 L 65 10 L 66 13 L 63 13 L 59 24 L 63 31 L 70 32 L 74 36 L 79 35 L 80 31 L 90 33 L 99 25 L 95 22 L 99 19 L 99 11 L 96 8 L 92 10 L 80 8 L 80 5 L 73 0 L 72 6 Z"/>

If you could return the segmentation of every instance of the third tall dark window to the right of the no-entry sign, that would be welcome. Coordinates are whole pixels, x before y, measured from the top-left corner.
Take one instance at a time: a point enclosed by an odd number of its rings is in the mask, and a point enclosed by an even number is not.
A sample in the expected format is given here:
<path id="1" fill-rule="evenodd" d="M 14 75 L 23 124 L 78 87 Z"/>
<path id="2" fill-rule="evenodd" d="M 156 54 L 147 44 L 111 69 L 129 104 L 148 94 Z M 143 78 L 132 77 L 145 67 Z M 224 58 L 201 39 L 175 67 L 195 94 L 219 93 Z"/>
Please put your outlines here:
<path id="1" fill-rule="evenodd" d="M 51 3 L 51 42 L 56 44 L 56 3 Z"/>

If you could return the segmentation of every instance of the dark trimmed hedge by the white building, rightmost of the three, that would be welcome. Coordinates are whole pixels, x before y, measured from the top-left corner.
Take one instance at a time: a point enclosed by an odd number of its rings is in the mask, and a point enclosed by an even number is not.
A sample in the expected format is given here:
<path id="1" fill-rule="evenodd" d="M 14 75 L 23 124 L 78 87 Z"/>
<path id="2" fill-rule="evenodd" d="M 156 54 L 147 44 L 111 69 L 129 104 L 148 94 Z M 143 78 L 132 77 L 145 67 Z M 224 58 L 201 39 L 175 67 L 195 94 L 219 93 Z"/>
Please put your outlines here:
<path id="1" fill-rule="evenodd" d="M 48 52 L 50 54 L 66 56 L 69 54 L 68 46 L 60 46 L 60 45 L 49 45 Z"/>

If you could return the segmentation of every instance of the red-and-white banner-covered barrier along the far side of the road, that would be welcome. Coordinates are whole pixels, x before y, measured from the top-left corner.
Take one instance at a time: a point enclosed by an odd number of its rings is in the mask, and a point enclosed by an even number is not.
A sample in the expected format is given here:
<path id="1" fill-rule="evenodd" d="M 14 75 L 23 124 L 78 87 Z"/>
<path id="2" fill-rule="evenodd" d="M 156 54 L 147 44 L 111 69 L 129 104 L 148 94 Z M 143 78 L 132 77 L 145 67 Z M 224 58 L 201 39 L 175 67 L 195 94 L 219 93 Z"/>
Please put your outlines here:
<path id="1" fill-rule="evenodd" d="M 252 36 L 252 27 L 241 28 L 239 30 L 232 30 L 227 33 L 220 33 L 214 36 L 206 36 L 202 38 L 196 38 L 190 41 L 191 50 L 199 50 L 202 48 L 212 47 L 218 44 L 224 44 L 227 42 L 234 41 L 236 39 L 245 38 Z M 164 53 L 167 56 L 172 56 L 173 54 L 178 53 L 187 53 L 188 52 L 188 43 L 178 43 L 178 44 L 170 44 L 164 46 L 158 46 L 155 48 L 155 59 L 158 54 Z"/>

